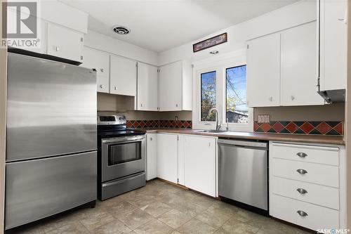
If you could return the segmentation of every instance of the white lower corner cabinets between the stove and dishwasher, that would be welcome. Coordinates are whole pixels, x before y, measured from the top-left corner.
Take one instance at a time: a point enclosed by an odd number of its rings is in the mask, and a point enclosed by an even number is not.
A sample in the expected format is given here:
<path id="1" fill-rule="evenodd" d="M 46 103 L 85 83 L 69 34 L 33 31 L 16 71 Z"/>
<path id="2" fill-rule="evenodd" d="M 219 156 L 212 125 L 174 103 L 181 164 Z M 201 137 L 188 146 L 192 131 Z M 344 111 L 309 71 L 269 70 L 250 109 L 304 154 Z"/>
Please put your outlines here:
<path id="1" fill-rule="evenodd" d="M 216 137 L 147 134 L 147 180 L 158 177 L 216 197 L 216 152 Z"/>

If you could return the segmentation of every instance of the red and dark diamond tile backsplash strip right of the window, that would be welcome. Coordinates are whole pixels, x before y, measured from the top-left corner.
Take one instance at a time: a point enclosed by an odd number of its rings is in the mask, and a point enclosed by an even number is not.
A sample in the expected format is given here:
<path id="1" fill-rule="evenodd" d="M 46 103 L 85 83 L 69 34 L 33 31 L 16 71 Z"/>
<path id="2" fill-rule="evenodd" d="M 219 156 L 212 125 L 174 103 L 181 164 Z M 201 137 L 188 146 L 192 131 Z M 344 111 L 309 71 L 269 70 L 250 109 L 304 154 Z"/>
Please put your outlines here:
<path id="1" fill-rule="evenodd" d="M 343 122 L 341 121 L 274 121 L 270 123 L 253 124 L 253 131 L 274 134 L 309 134 L 342 136 Z"/>

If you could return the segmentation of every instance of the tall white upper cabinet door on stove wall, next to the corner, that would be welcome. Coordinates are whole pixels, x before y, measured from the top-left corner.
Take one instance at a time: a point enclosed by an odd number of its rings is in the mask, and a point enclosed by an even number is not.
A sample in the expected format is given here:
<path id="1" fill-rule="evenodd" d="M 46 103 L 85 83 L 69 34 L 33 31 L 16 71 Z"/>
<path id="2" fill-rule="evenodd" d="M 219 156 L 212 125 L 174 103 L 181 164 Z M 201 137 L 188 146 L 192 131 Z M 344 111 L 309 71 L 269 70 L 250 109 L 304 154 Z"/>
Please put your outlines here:
<path id="1" fill-rule="evenodd" d="M 157 67 L 138 63 L 138 110 L 157 111 L 157 75 Z"/>

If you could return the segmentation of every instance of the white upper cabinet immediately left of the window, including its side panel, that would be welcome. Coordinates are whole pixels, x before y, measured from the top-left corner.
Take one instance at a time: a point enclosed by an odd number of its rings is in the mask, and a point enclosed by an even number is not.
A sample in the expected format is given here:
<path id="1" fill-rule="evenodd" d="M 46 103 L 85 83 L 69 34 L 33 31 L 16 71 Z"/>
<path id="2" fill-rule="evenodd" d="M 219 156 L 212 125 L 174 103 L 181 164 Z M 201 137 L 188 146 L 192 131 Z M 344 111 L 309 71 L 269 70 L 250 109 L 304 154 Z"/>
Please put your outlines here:
<path id="1" fill-rule="evenodd" d="M 178 61 L 159 67 L 159 110 L 192 110 L 190 63 Z"/>

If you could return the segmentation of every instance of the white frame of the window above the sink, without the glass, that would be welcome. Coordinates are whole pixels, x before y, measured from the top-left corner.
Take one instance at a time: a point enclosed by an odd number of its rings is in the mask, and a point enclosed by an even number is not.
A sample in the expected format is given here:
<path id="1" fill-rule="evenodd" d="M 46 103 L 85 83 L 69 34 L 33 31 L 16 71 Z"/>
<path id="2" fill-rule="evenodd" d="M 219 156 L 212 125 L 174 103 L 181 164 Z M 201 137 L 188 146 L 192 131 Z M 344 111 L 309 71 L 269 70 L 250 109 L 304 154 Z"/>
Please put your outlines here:
<path id="1" fill-rule="evenodd" d="M 229 126 L 229 131 L 253 131 L 253 108 L 249 108 L 249 121 L 247 124 L 227 123 L 226 120 L 226 69 L 246 65 L 246 50 L 226 53 L 221 56 L 199 60 L 193 63 L 193 107 L 192 125 L 194 129 L 215 129 L 215 121 L 201 121 L 201 74 L 216 70 L 216 108 L 218 110 L 218 123 L 222 129 Z M 246 101 L 247 101 L 246 79 Z"/>

